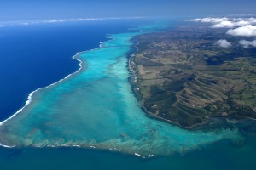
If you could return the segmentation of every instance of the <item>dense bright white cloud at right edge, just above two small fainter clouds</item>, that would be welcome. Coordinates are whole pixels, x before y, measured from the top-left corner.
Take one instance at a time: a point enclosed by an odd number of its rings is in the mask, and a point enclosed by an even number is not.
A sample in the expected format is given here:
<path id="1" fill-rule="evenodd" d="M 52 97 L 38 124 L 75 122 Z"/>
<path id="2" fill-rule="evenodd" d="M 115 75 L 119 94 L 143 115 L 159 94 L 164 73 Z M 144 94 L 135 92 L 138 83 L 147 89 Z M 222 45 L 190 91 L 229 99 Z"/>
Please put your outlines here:
<path id="1" fill-rule="evenodd" d="M 247 25 L 235 29 L 230 29 L 227 31 L 227 34 L 231 36 L 256 36 L 256 26 Z"/>

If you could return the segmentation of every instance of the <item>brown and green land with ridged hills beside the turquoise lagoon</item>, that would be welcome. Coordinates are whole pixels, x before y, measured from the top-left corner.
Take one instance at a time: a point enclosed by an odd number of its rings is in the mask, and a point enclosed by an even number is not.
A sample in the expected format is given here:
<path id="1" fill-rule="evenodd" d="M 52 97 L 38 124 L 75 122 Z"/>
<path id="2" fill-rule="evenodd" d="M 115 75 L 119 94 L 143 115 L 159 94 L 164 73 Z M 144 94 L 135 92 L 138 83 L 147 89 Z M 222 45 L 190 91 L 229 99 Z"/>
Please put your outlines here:
<path id="1" fill-rule="evenodd" d="M 229 39 L 231 48 L 214 45 Z M 130 65 L 153 116 L 194 127 L 210 117 L 256 119 L 256 49 L 207 26 L 183 26 L 137 37 Z"/>

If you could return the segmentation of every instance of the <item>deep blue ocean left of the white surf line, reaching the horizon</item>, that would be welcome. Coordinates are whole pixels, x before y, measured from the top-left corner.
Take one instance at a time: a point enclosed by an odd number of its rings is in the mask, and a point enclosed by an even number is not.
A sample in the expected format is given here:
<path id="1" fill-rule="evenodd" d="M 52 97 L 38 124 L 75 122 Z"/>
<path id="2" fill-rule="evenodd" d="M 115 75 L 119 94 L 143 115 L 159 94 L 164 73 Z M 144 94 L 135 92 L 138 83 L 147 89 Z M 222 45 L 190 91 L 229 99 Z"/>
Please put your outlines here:
<path id="1" fill-rule="evenodd" d="M 139 20 L 91 20 L 0 28 L 0 121 L 25 105 L 37 88 L 79 69 L 77 52 L 97 48 L 106 34 Z"/>

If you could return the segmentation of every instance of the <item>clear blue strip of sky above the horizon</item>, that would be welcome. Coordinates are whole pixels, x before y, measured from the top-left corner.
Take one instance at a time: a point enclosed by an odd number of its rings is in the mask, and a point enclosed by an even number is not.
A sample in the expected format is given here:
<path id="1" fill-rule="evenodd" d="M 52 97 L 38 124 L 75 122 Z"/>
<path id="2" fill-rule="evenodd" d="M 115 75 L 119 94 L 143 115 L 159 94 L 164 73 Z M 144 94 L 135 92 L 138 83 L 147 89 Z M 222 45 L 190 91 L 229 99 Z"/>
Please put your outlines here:
<path id="1" fill-rule="evenodd" d="M 256 0 L 0 0 L 0 20 L 256 14 Z"/>

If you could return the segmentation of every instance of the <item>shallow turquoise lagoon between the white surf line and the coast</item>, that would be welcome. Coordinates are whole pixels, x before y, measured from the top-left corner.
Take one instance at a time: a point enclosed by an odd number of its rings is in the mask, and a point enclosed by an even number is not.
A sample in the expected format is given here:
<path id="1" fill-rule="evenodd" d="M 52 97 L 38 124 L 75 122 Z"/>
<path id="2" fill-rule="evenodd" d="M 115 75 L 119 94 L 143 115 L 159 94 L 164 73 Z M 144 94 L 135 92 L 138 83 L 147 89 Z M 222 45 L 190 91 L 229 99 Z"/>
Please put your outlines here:
<path id="1" fill-rule="evenodd" d="M 0 143 L 18 147 L 76 146 L 149 157 L 244 138 L 236 127 L 191 131 L 145 116 L 128 82 L 131 39 L 162 26 L 109 36 L 101 48 L 79 53 L 82 69 L 42 88 L 32 102 L 0 127 Z M 140 31 L 139 31 L 140 30 Z"/>

